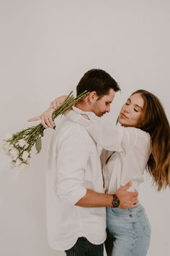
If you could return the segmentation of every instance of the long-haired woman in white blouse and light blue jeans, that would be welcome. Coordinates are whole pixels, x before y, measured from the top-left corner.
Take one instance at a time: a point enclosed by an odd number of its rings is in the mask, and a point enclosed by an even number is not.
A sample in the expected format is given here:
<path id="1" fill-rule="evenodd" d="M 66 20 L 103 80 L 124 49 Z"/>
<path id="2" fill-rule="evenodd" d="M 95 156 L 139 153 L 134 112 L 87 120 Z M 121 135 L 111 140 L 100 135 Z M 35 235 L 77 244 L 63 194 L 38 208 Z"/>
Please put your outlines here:
<path id="1" fill-rule="evenodd" d="M 52 106 L 58 107 L 58 98 Z M 163 106 L 155 95 L 137 90 L 122 106 L 113 126 L 97 118 L 86 126 L 91 137 L 104 148 L 101 155 L 104 188 L 109 194 L 129 180 L 138 190 L 143 172 L 151 174 L 159 190 L 169 185 L 170 130 Z M 136 208 L 107 208 L 107 255 L 145 256 L 150 244 L 150 224 L 145 210 L 138 202 Z M 111 248 L 111 249 L 110 249 Z"/>

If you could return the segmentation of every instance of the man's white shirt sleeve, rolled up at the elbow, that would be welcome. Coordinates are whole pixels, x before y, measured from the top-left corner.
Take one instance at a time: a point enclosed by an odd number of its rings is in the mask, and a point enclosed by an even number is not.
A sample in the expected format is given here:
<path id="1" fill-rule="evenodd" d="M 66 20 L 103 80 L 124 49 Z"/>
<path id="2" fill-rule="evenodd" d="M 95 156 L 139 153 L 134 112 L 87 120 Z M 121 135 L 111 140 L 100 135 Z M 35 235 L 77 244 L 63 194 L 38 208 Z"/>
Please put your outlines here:
<path id="1" fill-rule="evenodd" d="M 84 173 L 89 159 L 89 145 L 79 125 L 63 130 L 58 140 L 56 158 L 58 196 L 70 205 L 75 205 L 86 195 Z"/>

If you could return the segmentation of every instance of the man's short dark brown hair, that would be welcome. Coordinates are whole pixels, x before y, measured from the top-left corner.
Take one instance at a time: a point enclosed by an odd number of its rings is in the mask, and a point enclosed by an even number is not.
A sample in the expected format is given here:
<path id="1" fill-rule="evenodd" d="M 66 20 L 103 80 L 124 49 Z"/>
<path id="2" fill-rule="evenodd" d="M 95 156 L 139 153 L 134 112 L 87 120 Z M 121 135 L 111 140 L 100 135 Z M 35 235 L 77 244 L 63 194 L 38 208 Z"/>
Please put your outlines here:
<path id="1" fill-rule="evenodd" d="M 90 69 L 81 78 L 76 87 L 76 95 L 79 95 L 87 90 L 88 92 L 95 91 L 99 97 L 109 94 L 109 90 L 113 89 L 115 92 L 120 90 L 117 82 L 102 69 Z"/>

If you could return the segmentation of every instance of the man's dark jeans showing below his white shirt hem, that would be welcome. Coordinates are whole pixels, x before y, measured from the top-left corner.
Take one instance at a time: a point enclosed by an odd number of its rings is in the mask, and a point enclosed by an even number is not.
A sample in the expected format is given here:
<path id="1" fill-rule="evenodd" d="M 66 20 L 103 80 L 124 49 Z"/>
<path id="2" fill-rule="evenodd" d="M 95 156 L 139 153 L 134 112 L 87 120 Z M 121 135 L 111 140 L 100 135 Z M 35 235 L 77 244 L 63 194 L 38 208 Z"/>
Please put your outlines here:
<path id="1" fill-rule="evenodd" d="M 71 249 L 67 249 L 67 256 L 103 256 L 104 244 L 91 244 L 86 237 L 79 237 Z"/>

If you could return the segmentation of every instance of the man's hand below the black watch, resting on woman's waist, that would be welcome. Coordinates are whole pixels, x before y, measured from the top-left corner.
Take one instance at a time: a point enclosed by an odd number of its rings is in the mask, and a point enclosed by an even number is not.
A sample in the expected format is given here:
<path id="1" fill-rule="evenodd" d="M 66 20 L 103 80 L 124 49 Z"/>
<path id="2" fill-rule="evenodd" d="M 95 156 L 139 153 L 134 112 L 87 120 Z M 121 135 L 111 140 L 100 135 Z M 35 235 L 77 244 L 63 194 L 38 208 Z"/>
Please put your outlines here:
<path id="1" fill-rule="evenodd" d="M 135 208 L 136 203 L 138 202 L 138 192 L 128 192 L 128 189 L 131 186 L 131 182 L 125 184 L 125 186 L 120 187 L 115 192 L 115 195 L 119 197 L 120 205 L 119 208 L 128 209 L 128 208 Z"/>

